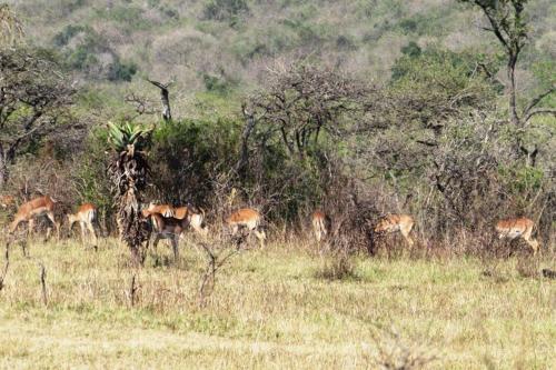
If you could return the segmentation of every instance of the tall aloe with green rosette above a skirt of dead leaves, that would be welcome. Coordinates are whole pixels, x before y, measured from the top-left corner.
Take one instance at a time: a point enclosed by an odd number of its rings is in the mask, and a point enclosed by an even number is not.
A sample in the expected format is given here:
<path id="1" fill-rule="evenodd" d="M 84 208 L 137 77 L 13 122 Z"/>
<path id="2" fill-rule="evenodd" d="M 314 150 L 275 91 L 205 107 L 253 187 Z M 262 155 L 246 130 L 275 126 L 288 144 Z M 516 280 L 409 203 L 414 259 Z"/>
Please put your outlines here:
<path id="1" fill-rule="evenodd" d="M 108 167 L 112 192 L 118 207 L 120 237 L 131 250 L 136 262 L 142 263 L 141 246 L 148 239 L 148 227 L 140 216 L 141 192 L 148 184 L 149 166 L 145 150 L 151 143 L 152 129 L 129 122 L 108 123 L 108 141 L 115 154 Z"/>

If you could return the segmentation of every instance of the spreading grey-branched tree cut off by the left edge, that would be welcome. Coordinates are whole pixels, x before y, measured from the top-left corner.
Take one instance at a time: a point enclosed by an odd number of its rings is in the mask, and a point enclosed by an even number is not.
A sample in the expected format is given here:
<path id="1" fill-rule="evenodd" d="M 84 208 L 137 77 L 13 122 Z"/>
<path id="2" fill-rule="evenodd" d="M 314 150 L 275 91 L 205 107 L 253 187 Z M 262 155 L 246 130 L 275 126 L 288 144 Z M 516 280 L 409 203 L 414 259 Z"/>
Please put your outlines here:
<path id="1" fill-rule="evenodd" d="M 70 124 L 73 93 L 49 56 L 28 49 L 0 50 L 0 187 L 19 154 Z"/>

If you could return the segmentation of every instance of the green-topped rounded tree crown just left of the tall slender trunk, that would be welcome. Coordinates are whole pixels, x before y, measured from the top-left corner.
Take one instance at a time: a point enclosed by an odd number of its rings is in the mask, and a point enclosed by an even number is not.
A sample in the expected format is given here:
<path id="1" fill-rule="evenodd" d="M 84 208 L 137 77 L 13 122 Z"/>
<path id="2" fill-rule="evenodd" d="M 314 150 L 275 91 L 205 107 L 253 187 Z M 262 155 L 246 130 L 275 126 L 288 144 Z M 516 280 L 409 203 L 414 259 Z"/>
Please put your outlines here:
<path id="1" fill-rule="evenodd" d="M 378 97 L 387 106 L 375 103 L 375 116 L 390 124 L 415 121 L 438 136 L 448 119 L 493 108 L 496 89 L 477 68 L 475 54 L 436 48 L 403 50 L 393 66 L 387 96 Z"/>

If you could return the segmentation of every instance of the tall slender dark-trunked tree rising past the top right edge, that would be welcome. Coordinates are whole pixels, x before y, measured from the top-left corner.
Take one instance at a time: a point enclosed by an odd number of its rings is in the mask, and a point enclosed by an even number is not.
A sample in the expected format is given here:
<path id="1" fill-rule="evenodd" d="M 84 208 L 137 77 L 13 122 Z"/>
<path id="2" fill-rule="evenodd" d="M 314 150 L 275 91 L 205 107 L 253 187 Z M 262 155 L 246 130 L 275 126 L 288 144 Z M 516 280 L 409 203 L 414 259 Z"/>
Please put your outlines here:
<path id="1" fill-rule="evenodd" d="M 528 0 L 459 0 L 479 8 L 488 20 L 489 27 L 485 30 L 494 33 L 506 54 L 506 74 L 508 79 L 508 114 L 509 121 L 518 130 L 517 151 L 532 154 L 523 144 L 523 131 L 526 123 L 537 114 L 556 116 L 556 109 L 537 108 L 537 106 L 552 94 L 556 87 L 553 84 L 546 91 L 532 99 L 520 110 L 517 107 L 515 71 L 519 56 L 528 42 L 527 20 L 525 7 Z M 533 150 L 537 152 L 537 148 Z"/>

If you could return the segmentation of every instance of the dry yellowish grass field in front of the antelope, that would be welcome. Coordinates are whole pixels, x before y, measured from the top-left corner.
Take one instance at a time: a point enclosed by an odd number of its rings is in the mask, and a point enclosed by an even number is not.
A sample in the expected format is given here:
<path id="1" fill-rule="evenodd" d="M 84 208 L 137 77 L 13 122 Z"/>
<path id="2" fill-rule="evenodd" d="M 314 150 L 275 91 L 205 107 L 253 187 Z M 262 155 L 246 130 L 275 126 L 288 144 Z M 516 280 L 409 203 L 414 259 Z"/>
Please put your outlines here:
<path id="1" fill-rule="evenodd" d="M 404 353 L 435 358 L 427 369 L 556 367 L 555 280 L 524 277 L 515 257 L 360 256 L 330 280 L 330 257 L 276 242 L 230 259 L 200 307 L 206 259 L 191 243 L 176 264 L 160 243 L 142 269 L 112 239 L 29 254 L 11 248 L 0 291 L 1 368 L 376 369 Z"/>

